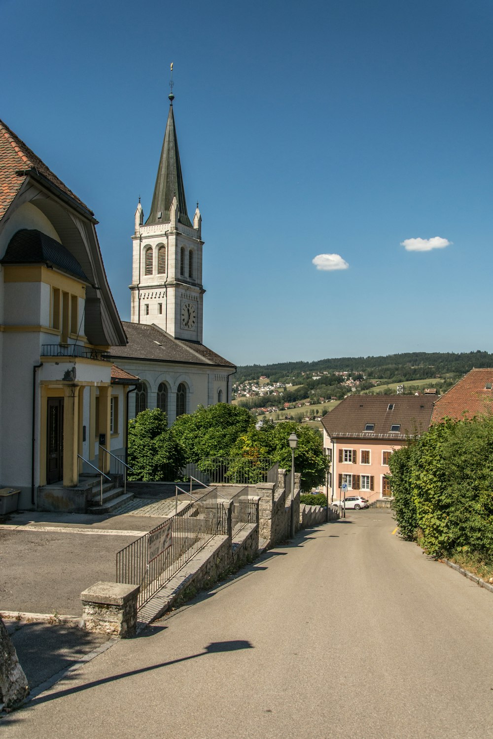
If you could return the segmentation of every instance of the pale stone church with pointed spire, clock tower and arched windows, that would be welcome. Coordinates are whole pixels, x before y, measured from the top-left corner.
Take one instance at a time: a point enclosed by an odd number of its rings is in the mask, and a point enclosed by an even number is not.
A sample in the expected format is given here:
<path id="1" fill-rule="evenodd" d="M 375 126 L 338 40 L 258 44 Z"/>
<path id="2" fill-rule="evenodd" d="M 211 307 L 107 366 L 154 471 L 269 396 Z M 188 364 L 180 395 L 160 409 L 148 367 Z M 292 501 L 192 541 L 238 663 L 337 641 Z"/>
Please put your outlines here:
<path id="1" fill-rule="evenodd" d="M 160 408 L 171 425 L 197 406 L 231 401 L 236 367 L 203 344 L 202 218 L 188 217 L 173 100 L 149 217 L 135 211 L 131 320 L 124 347 L 111 347 L 119 367 L 140 378 L 130 395 L 130 418 Z"/>

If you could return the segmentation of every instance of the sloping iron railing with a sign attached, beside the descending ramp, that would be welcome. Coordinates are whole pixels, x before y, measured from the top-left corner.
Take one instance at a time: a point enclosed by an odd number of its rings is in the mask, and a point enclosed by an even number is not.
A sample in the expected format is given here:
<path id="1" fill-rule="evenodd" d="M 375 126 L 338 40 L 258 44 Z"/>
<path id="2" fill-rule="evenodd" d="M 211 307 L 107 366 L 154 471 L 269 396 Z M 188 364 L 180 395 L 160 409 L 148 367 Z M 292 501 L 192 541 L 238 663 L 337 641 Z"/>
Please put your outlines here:
<path id="1" fill-rule="evenodd" d="M 171 516 L 171 544 L 149 561 L 149 542 L 163 524 L 123 547 L 116 556 L 116 582 L 140 585 L 137 607 L 142 607 L 216 534 L 222 533 L 217 488 L 194 494 L 194 500 Z M 166 525 L 166 522 L 165 524 Z"/>

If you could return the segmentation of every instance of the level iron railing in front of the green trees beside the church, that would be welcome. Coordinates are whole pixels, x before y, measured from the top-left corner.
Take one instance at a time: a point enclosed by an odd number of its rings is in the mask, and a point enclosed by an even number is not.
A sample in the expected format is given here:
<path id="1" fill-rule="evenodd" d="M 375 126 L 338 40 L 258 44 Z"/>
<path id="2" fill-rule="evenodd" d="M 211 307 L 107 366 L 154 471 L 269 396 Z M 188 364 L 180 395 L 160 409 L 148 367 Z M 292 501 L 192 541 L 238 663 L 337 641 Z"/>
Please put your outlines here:
<path id="1" fill-rule="evenodd" d="M 279 464 L 269 458 L 248 460 L 244 457 L 210 457 L 198 465 L 211 485 L 255 485 L 276 483 Z"/>

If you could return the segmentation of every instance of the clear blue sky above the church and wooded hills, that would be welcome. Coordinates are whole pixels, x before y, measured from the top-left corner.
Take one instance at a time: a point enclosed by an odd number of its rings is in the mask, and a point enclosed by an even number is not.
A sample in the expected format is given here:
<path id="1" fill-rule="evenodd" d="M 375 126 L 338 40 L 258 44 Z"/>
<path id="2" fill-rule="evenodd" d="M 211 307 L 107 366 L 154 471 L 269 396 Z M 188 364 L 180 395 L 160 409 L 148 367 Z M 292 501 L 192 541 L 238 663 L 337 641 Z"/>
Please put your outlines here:
<path id="1" fill-rule="evenodd" d="M 0 118 L 95 211 L 122 319 L 173 61 L 205 344 L 237 364 L 492 351 L 491 0 L 0 13 Z"/>

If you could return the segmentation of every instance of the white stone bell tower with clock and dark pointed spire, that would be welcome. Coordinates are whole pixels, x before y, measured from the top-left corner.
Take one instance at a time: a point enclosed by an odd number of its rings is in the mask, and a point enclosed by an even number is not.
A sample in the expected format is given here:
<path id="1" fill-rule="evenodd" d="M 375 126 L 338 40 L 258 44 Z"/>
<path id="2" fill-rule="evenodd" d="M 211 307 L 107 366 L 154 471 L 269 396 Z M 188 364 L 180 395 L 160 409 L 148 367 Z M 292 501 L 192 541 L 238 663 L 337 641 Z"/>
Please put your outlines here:
<path id="1" fill-rule="evenodd" d="M 171 64 L 171 74 L 173 65 Z M 188 218 L 174 126 L 173 82 L 169 114 L 149 217 L 135 211 L 132 236 L 132 323 L 156 324 L 174 338 L 202 343 L 202 218 Z"/>

